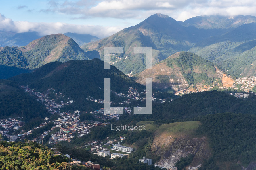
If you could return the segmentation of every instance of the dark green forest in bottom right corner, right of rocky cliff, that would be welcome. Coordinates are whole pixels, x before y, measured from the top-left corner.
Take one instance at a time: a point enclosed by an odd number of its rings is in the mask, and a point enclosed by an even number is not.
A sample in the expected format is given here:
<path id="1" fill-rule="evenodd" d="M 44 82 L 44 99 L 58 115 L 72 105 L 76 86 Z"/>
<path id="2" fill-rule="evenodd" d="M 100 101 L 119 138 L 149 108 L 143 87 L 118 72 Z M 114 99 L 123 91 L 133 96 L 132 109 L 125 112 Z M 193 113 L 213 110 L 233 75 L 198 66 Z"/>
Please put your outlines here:
<path id="1" fill-rule="evenodd" d="M 248 114 L 202 116 L 198 133 L 206 134 L 209 138 L 212 157 L 200 169 L 241 169 L 241 165 L 246 167 L 255 161 L 255 121 L 256 116 Z"/>

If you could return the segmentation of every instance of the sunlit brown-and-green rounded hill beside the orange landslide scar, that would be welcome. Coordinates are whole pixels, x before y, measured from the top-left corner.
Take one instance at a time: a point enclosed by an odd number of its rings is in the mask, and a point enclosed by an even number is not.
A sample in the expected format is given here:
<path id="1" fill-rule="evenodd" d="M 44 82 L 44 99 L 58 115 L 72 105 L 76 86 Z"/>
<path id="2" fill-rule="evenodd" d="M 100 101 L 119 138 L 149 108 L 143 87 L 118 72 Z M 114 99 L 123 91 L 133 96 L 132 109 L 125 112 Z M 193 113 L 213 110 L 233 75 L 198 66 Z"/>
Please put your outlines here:
<path id="1" fill-rule="evenodd" d="M 135 81 L 146 84 L 146 78 L 153 78 L 153 87 L 177 91 L 190 85 L 213 85 L 222 77 L 223 72 L 212 62 L 194 53 L 178 52 L 142 71 Z"/>

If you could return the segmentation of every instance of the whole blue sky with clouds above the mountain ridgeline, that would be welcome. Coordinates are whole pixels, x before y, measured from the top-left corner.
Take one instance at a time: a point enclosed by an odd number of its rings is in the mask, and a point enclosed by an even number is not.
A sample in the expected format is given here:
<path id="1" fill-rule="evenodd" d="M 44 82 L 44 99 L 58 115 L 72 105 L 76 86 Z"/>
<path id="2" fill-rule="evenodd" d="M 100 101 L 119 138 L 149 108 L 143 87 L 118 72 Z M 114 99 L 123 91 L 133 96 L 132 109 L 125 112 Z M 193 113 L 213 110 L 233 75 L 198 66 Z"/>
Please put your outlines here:
<path id="1" fill-rule="evenodd" d="M 254 0 L 3 0 L 0 30 L 41 35 L 77 32 L 99 38 L 136 25 L 155 13 L 184 21 L 198 15 L 253 15 Z"/>

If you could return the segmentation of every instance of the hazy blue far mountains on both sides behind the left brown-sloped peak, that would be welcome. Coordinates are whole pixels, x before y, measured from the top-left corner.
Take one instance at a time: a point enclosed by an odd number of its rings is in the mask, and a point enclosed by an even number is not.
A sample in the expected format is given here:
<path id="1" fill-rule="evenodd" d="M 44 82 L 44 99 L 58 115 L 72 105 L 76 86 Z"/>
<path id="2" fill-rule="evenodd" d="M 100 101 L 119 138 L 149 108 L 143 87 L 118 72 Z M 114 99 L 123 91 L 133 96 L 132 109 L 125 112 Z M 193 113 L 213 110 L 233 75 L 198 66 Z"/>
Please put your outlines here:
<path id="1" fill-rule="evenodd" d="M 72 38 L 79 46 L 84 45 L 88 42 L 99 40 L 98 37 L 92 36 L 90 34 L 77 34 L 67 32 L 64 35 Z M 41 38 L 42 36 L 35 31 L 15 33 L 10 31 L 1 31 L 0 30 L 0 47 L 4 46 L 26 46 L 31 41 Z"/>

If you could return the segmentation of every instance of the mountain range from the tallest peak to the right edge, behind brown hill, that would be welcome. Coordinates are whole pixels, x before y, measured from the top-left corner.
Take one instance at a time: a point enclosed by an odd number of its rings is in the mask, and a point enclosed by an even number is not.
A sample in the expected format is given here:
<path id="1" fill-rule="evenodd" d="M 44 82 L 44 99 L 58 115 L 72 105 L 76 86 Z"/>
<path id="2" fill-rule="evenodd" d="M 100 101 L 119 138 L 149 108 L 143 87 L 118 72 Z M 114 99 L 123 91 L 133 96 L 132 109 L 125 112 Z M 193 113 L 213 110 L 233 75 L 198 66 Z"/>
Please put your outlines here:
<path id="1" fill-rule="evenodd" d="M 133 54 L 134 46 L 152 46 L 154 64 L 168 56 L 190 51 L 213 61 L 235 76 L 255 75 L 256 17 L 198 16 L 184 22 L 163 14 L 125 28 L 116 34 L 82 46 L 97 50 L 103 58 L 105 46 L 122 46 L 123 54 L 112 56 L 112 63 L 124 73 L 140 73 L 145 58 Z M 239 63 L 239 64 L 238 64 Z"/>

